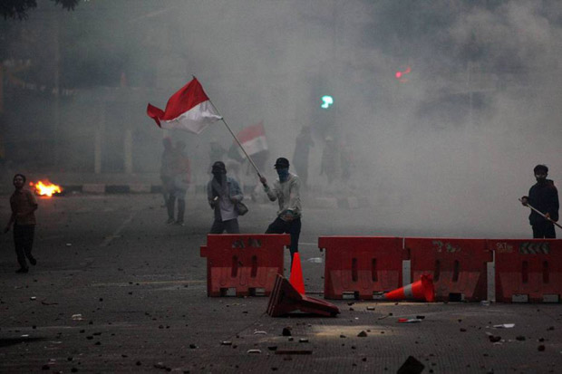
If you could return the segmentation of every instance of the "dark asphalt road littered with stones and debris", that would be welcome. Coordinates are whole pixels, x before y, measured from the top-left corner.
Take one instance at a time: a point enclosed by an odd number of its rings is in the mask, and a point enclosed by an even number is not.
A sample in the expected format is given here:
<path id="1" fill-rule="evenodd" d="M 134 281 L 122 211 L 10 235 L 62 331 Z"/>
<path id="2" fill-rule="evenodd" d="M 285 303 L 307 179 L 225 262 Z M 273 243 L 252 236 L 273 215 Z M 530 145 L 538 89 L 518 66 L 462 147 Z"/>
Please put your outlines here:
<path id="1" fill-rule="evenodd" d="M 0 198 L 7 219 L 8 197 Z M 199 246 L 212 212 L 198 196 L 187 225 L 165 225 L 160 199 L 41 199 L 38 264 L 27 274 L 15 273 L 11 234 L 0 236 L 0 372 L 396 372 L 409 356 L 424 373 L 560 372 L 560 304 L 342 301 L 337 318 L 274 319 L 265 297 L 208 298 Z M 276 206 L 248 205 L 242 231 L 263 233 Z M 305 211 L 310 295 L 322 297 L 324 264 L 309 261 L 323 257 L 319 235 L 405 235 L 354 219 L 370 214 Z M 420 323 L 397 323 L 418 315 Z M 503 323 L 515 326 L 493 328 Z"/>

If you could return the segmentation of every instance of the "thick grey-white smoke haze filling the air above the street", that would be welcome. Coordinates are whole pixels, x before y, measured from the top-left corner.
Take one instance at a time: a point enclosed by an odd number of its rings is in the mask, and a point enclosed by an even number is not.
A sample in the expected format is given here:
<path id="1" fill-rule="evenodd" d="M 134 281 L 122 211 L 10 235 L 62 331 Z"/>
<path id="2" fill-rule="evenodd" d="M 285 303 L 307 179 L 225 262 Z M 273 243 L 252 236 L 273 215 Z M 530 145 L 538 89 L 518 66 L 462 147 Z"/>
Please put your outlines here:
<path id="1" fill-rule="evenodd" d="M 41 5 L 12 27 L 40 27 L 53 15 Z M 235 132 L 264 121 L 268 166 L 292 158 L 296 135 L 312 126 L 310 183 L 369 197 L 372 212 L 356 219 L 372 235 L 529 237 L 517 199 L 533 167 L 547 164 L 562 184 L 558 1 L 91 0 L 58 15 L 63 30 L 83 27 L 62 50 L 79 46 L 82 60 L 117 64 L 129 81 L 116 91 L 117 78 L 111 94 L 99 87 L 111 84 L 92 83 L 62 104 L 65 154 L 76 164 L 91 162 L 89 128 L 102 120 L 106 149 L 119 149 L 129 127 L 133 147 L 142 144 L 135 168 L 156 172 L 162 131 L 146 103 L 163 108 L 193 74 Z M 11 44 L 25 47 L 22 37 Z M 394 74 L 407 68 L 399 82 Z M 333 125 L 317 117 L 322 94 L 334 96 Z M 101 97 L 103 114 L 88 109 Z M 220 122 L 199 136 L 169 135 L 188 143 L 198 184 L 209 141 L 232 143 Z M 350 144 L 356 163 L 351 180 L 332 188 L 318 175 L 326 136 Z"/>

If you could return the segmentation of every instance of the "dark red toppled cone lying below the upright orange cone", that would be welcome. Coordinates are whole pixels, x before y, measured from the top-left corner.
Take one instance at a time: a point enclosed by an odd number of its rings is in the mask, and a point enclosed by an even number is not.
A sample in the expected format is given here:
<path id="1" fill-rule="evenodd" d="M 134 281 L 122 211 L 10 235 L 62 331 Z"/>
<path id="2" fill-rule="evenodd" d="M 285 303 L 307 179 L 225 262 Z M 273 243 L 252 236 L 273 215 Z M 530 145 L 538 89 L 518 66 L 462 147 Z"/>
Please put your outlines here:
<path id="1" fill-rule="evenodd" d="M 333 303 L 297 292 L 286 278 L 277 274 L 276 283 L 267 303 L 267 314 L 271 317 L 281 317 L 296 311 L 324 317 L 335 317 L 340 312 Z"/>

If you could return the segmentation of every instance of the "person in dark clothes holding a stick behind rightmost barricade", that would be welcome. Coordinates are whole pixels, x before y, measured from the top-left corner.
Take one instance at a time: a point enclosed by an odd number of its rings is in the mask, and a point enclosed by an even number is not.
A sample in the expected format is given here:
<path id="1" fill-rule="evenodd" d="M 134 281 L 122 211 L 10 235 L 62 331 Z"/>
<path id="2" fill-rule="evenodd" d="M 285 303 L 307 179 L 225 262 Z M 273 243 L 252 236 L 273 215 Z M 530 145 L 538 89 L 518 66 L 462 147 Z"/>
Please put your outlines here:
<path id="1" fill-rule="evenodd" d="M 533 238 L 554 239 L 557 237 L 554 225 L 558 220 L 558 190 L 554 182 L 547 179 L 546 165 L 537 165 L 533 169 L 537 183 L 528 191 L 528 197 L 521 197 L 523 206 L 531 208 L 528 221 L 533 228 Z"/>

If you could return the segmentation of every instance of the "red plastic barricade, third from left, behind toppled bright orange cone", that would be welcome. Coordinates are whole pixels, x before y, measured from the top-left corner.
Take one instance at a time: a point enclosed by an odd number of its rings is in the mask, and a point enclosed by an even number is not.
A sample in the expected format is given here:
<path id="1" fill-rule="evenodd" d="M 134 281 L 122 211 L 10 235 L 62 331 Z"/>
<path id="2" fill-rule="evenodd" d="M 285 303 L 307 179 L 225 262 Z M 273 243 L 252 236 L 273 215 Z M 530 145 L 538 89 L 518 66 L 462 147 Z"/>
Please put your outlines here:
<path id="1" fill-rule="evenodd" d="M 486 263 L 492 261 L 486 239 L 407 237 L 404 248 L 410 254 L 412 280 L 433 275 L 435 300 L 486 300 Z"/>

